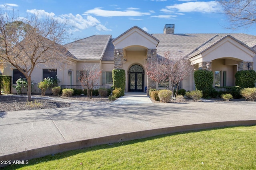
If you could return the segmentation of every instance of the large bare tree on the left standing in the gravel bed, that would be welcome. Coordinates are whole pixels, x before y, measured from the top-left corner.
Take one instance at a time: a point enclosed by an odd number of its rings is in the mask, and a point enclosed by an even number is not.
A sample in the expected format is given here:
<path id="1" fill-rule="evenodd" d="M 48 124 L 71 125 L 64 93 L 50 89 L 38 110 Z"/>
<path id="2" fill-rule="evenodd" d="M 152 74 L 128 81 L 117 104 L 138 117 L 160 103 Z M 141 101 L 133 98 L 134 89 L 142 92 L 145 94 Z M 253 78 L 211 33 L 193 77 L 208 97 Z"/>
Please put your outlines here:
<path id="1" fill-rule="evenodd" d="M 66 23 L 54 18 L 20 19 L 0 11 L 0 59 L 24 74 L 28 81 L 28 100 L 31 100 L 31 75 L 36 66 L 56 68 L 69 64 L 68 52 L 60 45 L 66 37 Z"/>

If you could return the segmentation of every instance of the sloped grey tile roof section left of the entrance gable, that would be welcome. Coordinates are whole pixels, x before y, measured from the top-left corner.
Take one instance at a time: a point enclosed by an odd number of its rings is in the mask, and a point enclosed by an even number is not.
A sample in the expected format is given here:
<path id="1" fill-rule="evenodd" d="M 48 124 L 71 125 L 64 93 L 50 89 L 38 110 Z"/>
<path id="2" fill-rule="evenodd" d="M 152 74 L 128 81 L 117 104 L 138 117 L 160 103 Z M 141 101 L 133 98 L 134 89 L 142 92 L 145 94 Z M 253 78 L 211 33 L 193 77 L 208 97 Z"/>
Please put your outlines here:
<path id="1" fill-rule="evenodd" d="M 111 35 L 92 35 L 64 47 L 78 60 L 101 60 L 111 38 Z"/>

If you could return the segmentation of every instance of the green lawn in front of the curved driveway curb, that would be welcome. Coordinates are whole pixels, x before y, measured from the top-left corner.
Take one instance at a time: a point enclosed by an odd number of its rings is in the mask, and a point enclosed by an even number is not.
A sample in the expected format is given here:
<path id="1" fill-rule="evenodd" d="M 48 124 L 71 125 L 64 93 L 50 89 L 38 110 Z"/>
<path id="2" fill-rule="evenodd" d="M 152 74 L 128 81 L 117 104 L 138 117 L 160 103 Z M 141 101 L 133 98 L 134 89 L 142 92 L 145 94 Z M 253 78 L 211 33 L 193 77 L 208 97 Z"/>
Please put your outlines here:
<path id="1" fill-rule="evenodd" d="M 160 135 L 72 150 L 4 169 L 256 169 L 256 126 Z"/>

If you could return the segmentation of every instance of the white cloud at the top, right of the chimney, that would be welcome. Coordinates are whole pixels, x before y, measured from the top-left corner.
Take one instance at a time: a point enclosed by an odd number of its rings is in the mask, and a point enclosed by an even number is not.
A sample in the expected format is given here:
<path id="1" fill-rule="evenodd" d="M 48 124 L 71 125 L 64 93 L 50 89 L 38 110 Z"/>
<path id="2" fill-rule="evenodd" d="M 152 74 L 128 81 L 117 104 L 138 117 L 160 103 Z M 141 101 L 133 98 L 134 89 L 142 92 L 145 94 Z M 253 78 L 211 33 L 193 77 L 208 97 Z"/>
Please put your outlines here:
<path id="1" fill-rule="evenodd" d="M 178 10 L 178 12 L 216 12 L 220 10 L 218 2 L 186 2 L 183 4 L 174 4 L 166 6 L 169 10 Z"/>

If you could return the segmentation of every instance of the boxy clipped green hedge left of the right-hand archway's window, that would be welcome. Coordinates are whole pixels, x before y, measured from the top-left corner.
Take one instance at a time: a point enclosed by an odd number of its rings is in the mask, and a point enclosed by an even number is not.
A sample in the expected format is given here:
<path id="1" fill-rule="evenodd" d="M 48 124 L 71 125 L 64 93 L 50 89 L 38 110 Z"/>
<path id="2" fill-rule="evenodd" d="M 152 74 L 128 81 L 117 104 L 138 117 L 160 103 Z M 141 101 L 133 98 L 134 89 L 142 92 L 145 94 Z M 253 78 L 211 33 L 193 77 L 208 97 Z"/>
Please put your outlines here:
<path id="1" fill-rule="evenodd" d="M 197 90 L 212 89 L 213 72 L 208 70 L 196 70 L 194 80 Z"/>

